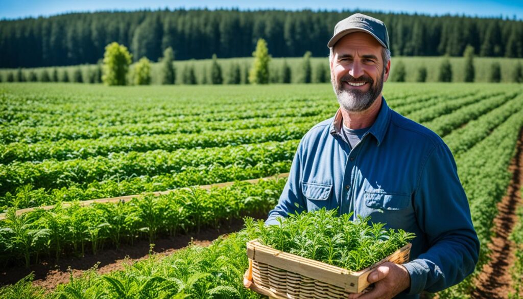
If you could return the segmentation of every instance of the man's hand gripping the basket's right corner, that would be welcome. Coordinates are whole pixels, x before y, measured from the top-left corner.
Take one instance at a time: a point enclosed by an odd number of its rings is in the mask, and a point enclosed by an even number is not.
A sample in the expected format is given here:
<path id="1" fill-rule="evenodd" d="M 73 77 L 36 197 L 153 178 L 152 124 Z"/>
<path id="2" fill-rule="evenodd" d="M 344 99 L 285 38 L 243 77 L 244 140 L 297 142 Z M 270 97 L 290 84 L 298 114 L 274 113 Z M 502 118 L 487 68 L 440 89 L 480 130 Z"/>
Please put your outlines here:
<path id="1" fill-rule="evenodd" d="M 390 299 L 411 286 L 411 276 L 403 265 L 385 262 L 367 277 L 374 289 L 365 294 L 350 294 L 349 299 Z"/>

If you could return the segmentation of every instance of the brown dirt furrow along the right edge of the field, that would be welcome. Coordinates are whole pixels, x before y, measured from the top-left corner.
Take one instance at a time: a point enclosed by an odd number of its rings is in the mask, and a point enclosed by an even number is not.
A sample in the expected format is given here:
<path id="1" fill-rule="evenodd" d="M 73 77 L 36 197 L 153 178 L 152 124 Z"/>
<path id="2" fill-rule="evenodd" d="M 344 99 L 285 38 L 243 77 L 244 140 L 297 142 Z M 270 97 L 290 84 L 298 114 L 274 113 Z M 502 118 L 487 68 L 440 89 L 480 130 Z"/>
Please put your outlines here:
<path id="1" fill-rule="evenodd" d="M 513 176 L 506 195 L 497 204 L 499 214 L 494 219 L 494 237 L 488 246 L 491 261 L 484 265 L 476 278 L 472 299 L 504 299 L 508 298 L 509 292 L 513 292 L 510 267 L 515 261 L 514 244 L 508 236 L 517 221 L 516 207 L 523 204 L 520 192 L 523 184 L 523 130 L 519 133 L 516 157 L 510 163 L 509 171 Z"/>

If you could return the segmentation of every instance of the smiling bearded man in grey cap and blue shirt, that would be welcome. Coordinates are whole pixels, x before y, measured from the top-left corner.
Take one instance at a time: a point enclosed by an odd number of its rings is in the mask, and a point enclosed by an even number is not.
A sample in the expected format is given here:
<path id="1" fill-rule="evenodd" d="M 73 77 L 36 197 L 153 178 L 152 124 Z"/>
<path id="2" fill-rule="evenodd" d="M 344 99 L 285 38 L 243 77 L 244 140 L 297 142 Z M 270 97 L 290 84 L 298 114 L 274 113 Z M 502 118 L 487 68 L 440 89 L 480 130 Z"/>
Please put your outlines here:
<path id="1" fill-rule="evenodd" d="M 340 108 L 301 140 L 266 224 L 326 207 L 414 232 L 411 261 L 384 263 L 368 276 L 374 289 L 351 298 L 417 298 L 457 284 L 474 270 L 479 240 L 448 147 L 382 97 L 391 65 L 385 25 L 352 15 L 328 47 Z"/>

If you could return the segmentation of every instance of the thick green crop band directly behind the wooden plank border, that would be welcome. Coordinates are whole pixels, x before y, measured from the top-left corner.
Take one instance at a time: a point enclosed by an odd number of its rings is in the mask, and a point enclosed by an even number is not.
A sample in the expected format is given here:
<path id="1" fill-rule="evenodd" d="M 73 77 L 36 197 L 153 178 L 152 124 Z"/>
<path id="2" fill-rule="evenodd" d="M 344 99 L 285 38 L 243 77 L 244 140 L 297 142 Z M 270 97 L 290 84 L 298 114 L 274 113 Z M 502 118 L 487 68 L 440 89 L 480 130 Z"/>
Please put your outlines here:
<path id="1" fill-rule="evenodd" d="M 65 190 L 60 190 L 62 187 L 73 187 L 71 195 L 74 195 L 78 189 L 96 189 L 100 184 L 108 187 L 104 188 L 105 190 L 122 191 L 119 186 L 122 184 L 140 193 L 172 189 L 180 184 L 190 186 L 260 178 L 275 174 L 275 171 L 288 171 L 282 167 L 290 166 L 298 141 L 271 141 L 225 148 L 180 149 L 174 152 L 129 152 L 85 160 L 48 160 L 39 164 L 15 162 L 0 168 L 0 186 L 5 194 L 3 201 L 6 204 L 19 201 L 15 199 L 16 195 L 25 188 L 18 187 L 27 184 L 30 184 L 29 189 L 45 189 L 39 194 L 64 196 Z M 249 175 L 252 176 L 248 177 Z M 105 180 L 111 182 L 106 184 L 103 182 Z M 118 187 L 115 188 L 115 185 Z M 156 189 L 148 190 L 149 188 Z M 125 187 L 123 189 L 125 190 Z M 69 191 L 65 192 L 69 194 Z M 120 195 L 128 194 L 109 196 Z M 13 196 L 15 198 L 12 198 Z M 31 201 L 25 203 L 29 204 Z"/>

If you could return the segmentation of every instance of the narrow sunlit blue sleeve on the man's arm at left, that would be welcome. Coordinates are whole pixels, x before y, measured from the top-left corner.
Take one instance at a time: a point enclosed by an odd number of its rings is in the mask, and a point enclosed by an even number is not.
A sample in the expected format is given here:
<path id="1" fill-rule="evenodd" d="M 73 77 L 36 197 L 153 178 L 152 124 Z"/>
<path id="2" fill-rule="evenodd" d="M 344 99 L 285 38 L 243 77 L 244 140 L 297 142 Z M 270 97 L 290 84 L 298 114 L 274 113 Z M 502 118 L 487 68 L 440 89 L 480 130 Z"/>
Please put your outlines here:
<path id="1" fill-rule="evenodd" d="M 265 221 L 266 225 L 278 224 L 278 217 L 287 217 L 289 214 L 301 213 L 304 211 L 305 203 L 303 201 L 300 187 L 302 142 L 300 142 L 298 150 L 294 154 L 289 178 L 287 179 L 285 187 L 283 187 L 283 192 L 280 195 L 278 204 L 269 212 L 269 216 Z"/>

